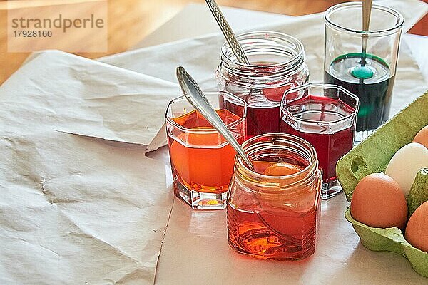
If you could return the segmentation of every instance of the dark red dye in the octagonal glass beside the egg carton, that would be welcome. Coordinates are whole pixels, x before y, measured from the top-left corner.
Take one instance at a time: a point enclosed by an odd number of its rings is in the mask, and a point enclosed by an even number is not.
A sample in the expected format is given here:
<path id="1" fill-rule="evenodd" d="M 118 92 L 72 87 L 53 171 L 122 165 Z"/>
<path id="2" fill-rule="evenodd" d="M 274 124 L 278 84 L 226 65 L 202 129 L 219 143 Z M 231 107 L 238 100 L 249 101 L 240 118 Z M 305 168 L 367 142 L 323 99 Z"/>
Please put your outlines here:
<path id="1" fill-rule="evenodd" d="M 310 95 L 302 100 L 296 100 L 292 105 L 300 105 L 299 108 L 302 110 L 320 110 L 318 112 L 304 111 L 300 115 L 295 115 L 297 118 L 322 122 L 337 120 L 354 112 L 354 109 L 349 105 L 341 105 L 338 109 L 336 100 L 314 95 Z M 317 158 L 322 168 L 322 182 L 327 183 L 336 180 L 337 160 L 352 149 L 355 125 L 339 130 L 336 133 L 321 133 L 325 131 L 322 127 L 312 127 L 312 130 L 307 128 L 304 129 L 305 127 L 300 128 L 300 130 L 297 130 L 295 126 L 287 123 L 284 118 L 281 120 L 281 133 L 296 135 L 297 137 L 303 138 L 317 151 Z"/>

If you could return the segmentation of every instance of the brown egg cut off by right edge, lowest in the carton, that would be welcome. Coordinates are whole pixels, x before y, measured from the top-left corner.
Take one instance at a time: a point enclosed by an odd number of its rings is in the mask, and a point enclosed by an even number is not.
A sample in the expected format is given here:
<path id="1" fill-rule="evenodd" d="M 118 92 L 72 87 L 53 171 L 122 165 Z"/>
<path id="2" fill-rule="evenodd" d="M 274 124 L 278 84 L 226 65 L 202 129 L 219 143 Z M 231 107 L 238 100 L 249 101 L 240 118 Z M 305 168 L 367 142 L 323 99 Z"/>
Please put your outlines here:
<path id="1" fill-rule="evenodd" d="M 428 252 L 428 201 L 420 205 L 410 216 L 405 237 L 412 246 Z"/>

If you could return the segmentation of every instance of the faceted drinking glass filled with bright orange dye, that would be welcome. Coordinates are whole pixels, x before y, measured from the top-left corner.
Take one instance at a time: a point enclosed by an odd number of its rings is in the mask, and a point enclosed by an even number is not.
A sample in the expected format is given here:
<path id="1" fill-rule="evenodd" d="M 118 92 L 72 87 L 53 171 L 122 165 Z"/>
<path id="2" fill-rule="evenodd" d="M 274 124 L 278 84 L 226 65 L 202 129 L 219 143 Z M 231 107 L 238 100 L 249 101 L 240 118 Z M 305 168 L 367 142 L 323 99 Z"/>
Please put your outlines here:
<path id="1" fill-rule="evenodd" d="M 205 96 L 238 142 L 245 138 L 244 100 L 227 92 L 204 91 Z M 233 113 L 225 105 L 233 103 Z M 193 108 L 184 96 L 166 110 L 166 131 L 174 194 L 193 209 L 225 209 L 236 152 Z"/>

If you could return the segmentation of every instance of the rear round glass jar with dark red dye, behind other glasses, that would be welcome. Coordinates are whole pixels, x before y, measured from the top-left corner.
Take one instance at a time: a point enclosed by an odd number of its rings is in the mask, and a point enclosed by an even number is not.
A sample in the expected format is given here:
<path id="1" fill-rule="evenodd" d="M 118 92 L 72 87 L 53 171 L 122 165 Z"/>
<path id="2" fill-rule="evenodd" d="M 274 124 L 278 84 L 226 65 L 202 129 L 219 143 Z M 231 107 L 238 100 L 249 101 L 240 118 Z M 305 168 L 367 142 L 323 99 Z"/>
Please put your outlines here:
<path id="1" fill-rule="evenodd" d="M 218 88 L 247 102 L 248 137 L 277 133 L 282 95 L 309 78 L 303 45 L 297 38 L 272 31 L 243 33 L 238 41 L 250 65 L 239 63 L 224 43 L 217 70 Z M 237 106 L 226 108 L 233 111 Z"/>

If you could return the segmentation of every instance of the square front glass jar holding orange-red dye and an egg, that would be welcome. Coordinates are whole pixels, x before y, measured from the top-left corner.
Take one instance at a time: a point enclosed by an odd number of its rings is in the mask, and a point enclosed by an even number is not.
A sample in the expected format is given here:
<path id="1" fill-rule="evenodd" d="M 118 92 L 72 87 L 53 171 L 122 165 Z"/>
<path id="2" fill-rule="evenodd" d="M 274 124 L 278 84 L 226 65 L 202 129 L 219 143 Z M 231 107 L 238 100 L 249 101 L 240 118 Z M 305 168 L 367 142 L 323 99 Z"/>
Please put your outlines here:
<path id="1" fill-rule="evenodd" d="M 236 157 L 227 206 L 230 247 L 260 259 L 309 257 L 320 219 L 315 149 L 280 133 L 255 136 L 242 147 L 257 172 Z"/>

